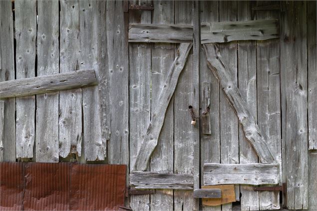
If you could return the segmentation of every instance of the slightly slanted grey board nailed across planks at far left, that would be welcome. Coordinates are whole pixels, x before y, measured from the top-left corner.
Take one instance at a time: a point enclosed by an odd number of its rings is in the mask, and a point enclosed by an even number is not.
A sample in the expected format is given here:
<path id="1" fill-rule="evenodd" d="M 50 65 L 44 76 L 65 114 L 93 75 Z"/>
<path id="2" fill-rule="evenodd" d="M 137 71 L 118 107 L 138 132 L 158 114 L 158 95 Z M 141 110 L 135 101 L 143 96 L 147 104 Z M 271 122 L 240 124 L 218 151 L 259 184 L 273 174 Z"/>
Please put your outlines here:
<path id="1" fill-rule="evenodd" d="M 21 78 L 0 82 L 0 98 L 23 97 L 96 84 L 93 69 Z"/>

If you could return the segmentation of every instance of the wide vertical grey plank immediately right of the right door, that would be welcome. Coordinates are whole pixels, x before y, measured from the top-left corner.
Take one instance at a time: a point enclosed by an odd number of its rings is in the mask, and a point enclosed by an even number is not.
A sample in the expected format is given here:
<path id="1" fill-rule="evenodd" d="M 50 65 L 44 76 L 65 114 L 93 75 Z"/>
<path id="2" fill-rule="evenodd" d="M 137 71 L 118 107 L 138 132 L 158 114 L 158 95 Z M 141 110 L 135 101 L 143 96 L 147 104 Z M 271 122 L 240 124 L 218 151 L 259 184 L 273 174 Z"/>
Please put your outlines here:
<path id="1" fill-rule="evenodd" d="M 283 182 L 287 208 L 308 208 L 307 2 L 282 1 L 281 99 Z"/>

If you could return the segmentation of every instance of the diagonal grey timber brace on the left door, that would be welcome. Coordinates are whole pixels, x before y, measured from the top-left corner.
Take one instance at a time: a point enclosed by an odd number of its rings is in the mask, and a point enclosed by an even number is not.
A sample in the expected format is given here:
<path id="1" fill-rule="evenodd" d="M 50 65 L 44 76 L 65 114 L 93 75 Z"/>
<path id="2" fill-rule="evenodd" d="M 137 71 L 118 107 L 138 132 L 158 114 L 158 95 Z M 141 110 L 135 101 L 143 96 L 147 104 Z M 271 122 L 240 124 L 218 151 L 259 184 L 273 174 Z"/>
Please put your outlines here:
<path id="1" fill-rule="evenodd" d="M 158 103 L 152 115 L 151 122 L 146 130 L 141 148 L 136 157 L 134 170 L 146 170 L 151 154 L 157 145 L 158 137 L 164 123 L 165 112 L 173 96 L 178 77 L 184 68 L 192 45 L 192 43 L 182 43 L 178 48 L 178 55 L 170 67 L 168 76 L 166 77 L 164 86 L 162 87 Z"/>

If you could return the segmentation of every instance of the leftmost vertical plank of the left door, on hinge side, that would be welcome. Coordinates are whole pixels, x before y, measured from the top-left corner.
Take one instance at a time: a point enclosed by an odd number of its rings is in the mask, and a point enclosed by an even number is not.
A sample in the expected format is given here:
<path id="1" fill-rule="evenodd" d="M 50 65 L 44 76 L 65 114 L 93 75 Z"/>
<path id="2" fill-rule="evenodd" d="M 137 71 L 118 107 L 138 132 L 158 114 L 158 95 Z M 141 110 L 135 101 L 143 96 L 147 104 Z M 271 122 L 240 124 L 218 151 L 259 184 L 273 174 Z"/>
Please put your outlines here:
<path id="1" fill-rule="evenodd" d="M 131 1 L 130 4 L 150 5 L 150 1 Z M 130 10 L 129 23 L 151 23 L 151 10 Z M 151 120 L 151 44 L 129 44 L 129 107 L 130 107 L 130 171 L 144 138 L 143 131 Z M 148 168 L 149 170 L 149 168 Z M 132 195 L 133 210 L 150 210 L 149 195 Z"/>

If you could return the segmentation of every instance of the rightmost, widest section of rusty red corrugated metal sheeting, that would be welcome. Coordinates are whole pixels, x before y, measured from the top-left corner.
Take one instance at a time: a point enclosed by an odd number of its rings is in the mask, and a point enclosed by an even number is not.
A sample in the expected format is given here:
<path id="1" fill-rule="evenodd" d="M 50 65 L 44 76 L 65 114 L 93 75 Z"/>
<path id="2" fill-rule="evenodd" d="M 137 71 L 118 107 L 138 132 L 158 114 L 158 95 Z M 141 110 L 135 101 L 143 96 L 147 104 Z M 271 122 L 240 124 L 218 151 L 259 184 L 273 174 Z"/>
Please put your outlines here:
<path id="1" fill-rule="evenodd" d="M 118 210 L 125 188 L 125 165 L 73 165 L 70 210 Z"/>

